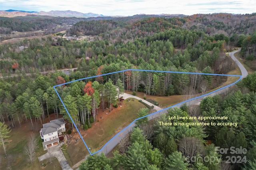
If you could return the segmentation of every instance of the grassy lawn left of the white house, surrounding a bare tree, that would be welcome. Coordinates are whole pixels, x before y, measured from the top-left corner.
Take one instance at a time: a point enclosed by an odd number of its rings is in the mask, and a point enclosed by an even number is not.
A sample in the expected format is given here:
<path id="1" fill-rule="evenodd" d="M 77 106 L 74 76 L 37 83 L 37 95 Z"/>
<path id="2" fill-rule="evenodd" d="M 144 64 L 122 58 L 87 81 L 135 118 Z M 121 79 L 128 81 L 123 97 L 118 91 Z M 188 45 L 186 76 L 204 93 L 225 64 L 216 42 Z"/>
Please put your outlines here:
<path id="1" fill-rule="evenodd" d="M 34 123 L 34 125 L 35 124 L 36 123 Z M 30 131 L 30 121 L 22 123 L 22 127 L 19 127 L 18 123 L 16 125 L 18 127 L 12 129 L 9 134 L 10 137 L 7 139 L 8 142 L 5 143 L 6 158 L 2 146 L 0 147 L 0 170 L 62 170 L 58 160 L 54 157 L 52 157 L 52 163 L 50 163 L 48 159 L 39 162 L 38 157 L 45 154 L 47 151 L 43 149 L 39 132 L 32 133 L 32 131 Z M 39 123 L 38 126 L 41 126 L 41 123 Z M 24 147 L 26 147 L 31 134 L 36 135 L 38 141 L 38 148 L 35 151 L 35 159 L 32 164 L 28 162 L 28 156 L 24 153 Z M 41 166 L 42 163 L 46 164 L 44 168 Z"/>

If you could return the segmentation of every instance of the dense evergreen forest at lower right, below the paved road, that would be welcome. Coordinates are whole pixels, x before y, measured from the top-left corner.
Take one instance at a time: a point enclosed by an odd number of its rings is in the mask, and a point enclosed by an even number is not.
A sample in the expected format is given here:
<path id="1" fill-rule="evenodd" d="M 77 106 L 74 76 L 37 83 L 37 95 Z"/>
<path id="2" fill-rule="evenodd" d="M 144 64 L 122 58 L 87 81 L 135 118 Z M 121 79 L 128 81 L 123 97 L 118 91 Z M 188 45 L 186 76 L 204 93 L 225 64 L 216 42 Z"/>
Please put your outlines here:
<path id="1" fill-rule="evenodd" d="M 227 96 L 207 97 L 202 100 L 200 109 L 183 105 L 180 109 L 169 109 L 155 121 L 137 124 L 130 134 L 119 143 L 119 150 L 107 158 L 104 154 L 89 156 L 80 165 L 81 170 L 89 169 L 148 169 L 148 170 L 253 170 L 256 168 L 256 72 L 249 75 L 238 89 Z M 197 110 L 197 111 L 195 111 Z M 200 120 L 175 120 L 188 125 L 162 126 L 159 121 L 174 123 L 173 116 L 227 116 L 228 120 L 209 122 L 237 122 L 238 126 L 193 126 L 189 123 Z M 167 120 L 167 121 L 166 121 Z M 154 125 L 152 125 L 154 124 Z M 236 153 L 240 163 L 227 163 L 231 152 L 216 152 L 220 148 L 247 148 L 246 152 Z M 211 161 L 203 159 L 211 158 Z M 195 158 L 195 159 L 193 159 Z"/>

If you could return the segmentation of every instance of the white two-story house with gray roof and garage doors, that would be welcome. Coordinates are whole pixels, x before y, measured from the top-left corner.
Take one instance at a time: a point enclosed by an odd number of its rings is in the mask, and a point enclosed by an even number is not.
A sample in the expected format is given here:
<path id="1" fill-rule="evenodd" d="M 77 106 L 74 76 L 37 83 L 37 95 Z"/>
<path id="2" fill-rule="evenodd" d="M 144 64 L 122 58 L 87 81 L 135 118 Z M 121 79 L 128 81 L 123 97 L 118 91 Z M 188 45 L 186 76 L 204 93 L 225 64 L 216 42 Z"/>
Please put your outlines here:
<path id="1" fill-rule="evenodd" d="M 63 118 L 51 120 L 49 123 L 43 124 L 43 128 L 40 130 L 41 139 L 44 141 L 43 147 L 49 148 L 59 144 L 59 136 L 62 132 L 66 131 L 65 121 Z"/>

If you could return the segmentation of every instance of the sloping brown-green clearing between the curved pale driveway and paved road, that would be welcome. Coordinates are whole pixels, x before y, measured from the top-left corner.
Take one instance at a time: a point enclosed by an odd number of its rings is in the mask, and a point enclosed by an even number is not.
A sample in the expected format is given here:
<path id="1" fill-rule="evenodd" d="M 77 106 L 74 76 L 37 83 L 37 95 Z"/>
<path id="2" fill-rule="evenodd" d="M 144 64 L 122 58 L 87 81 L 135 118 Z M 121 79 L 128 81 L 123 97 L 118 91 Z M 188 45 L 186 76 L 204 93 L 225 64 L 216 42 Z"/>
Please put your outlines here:
<path id="1" fill-rule="evenodd" d="M 142 107 L 145 106 L 134 99 L 134 101 L 130 100 L 130 102 L 124 100 L 122 107 L 118 106 L 111 112 L 109 112 L 109 109 L 104 112 L 99 110 L 97 115 L 99 122 L 96 122 L 96 125 L 92 125 L 92 128 L 87 130 L 87 134 L 84 137 L 86 144 L 91 148 L 91 152 L 101 149 L 116 133 L 134 121 L 137 118 L 138 110 Z M 100 116 L 103 116 L 103 118 L 100 119 Z"/>

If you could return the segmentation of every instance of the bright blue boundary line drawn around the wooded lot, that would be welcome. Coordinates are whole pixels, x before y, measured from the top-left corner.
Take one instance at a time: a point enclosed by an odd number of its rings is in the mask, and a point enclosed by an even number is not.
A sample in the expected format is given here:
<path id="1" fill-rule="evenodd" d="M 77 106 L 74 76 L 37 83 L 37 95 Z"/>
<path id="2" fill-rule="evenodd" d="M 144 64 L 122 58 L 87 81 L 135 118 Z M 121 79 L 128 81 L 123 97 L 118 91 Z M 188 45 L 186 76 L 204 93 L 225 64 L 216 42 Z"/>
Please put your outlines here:
<path id="1" fill-rule="evenodd" d="M 91 77 L 86 77 L 86 78 L 80 78 L 80 79 L 78 79 L 78 80 L 73 80 L 73 81 L 70 81 L 70 82 L 63 83 L 63 84 L 58 84 L 58 85 L 56 85 L 56 86 L 53 86 L 53 88 L 54 88 L 55 92 L 57 93 L 58 97 L 60 98 L 60 95 L 59 95 L 59 93 L 58 93 L 57 90 L 56 90 L 56 87 L 58 87 L 58 86 L 62 86 L 62 85 L 69 84 L 69 83 L 76 82 L 76 81 L 80 81 L 80 80 L 85 80 L 85 79 L 88 79 L 88 78 L 94 78 L 94 77 L 98 77 L 98 76 L 105 76 L 105 75 L 109 75 L 109 74 L 115 74 L 115 73 L 119 73 L 119 72 L 129 71 L 129 70 L 131 70 L 131 71 L 166 72 L 166 73 L 180 73 L 180 74 L 203 74 L 203 75 L 213 75 L 213 76 L 233 76 L 233 77 L 240 77 L 238 80 L 236 80 L 236 82 L 234 82 L 234 83 L 232 83 L 232 84 L 228 84 L 227 86 L 224 86 L 224 87 L 222 87 L 222 88 L 219 88 L 219 89 L 217 89 L 217 90 L 214 90 L 214 91 L 212 91 L 212 92 L 210 92 L 210 93 L 204 94 L 204 95 L 202 95 L 202 96 L 198 96 L 198 97 L 195 97 L 195 98 L 192 98 L 192 99 L 189 99 L 189 100 L 180 102 L 180 103 L 178 103 L 178 104 L 175 104 L 175 105 L 173 105 L 173 106 L 166 107 L 166 108 L 164 108 L 164 109 L 162 109 L 162 110 L 160 110 L 160 111 L 164 111 L 164 110 L 170 109 L 170 108 L 172 108 L 172 107 L 178 106 L 178 105 L 180 105 L 180 104 L 184 104 L 184 103 L 189 102 L 189 101 L 191 101 L 191 100 L 195 100 L 195 99 L 198 99 L 198 98 L 202 98 L 202 97 L 204 97 L 204 96 L 207 96 L 207 95 L 209 95 L 209 94 L 212 94 L 212 93 L 217 92 L 217 91 L 219 91 L 219 90 L 222 90 L 222 89 L 224 89 L 224 88 L 227 88 L 227 87 L 229 87 L 229 86 L 232 86 L 233 84 L 236 84 L 238 81 L 240 81 L 241 78 L 242 78 L 242 75 L 231 75 L 231 74 L 209 74 L 209 73 L 197 73 L 197 72 L 174 72 L 174 71 L 160 71 L 160 70 L 126 69 L 126 70 L 121 70 L 121 71 L 116 71 L 116 72 L 111 72 L 111 73 L 106 73 L 106 74 L 100 74 L 100 75 L 91 76 Z M 84 145 L 86 146 L 86 148 L 87 148 L 87 150 L 89 151 L 90 155 L 93 155 L 93 154 L 96 154 L 96 153 L 102 151 L 102 150 L 104 149 L 104 147 L 106 147 L 106 145 L 108 145 L 108 143 L 110 143 L 116 136 L 118 136 L 120 133 L 122 133 L 125 129 L 127 129 L 127 128 L 128 128 L 130 125 L 132 125 L 135 121 L 137 121 L 137 120 L 139 120 L 139 119 L 142 119 L 142 118 L 144 118 L 144 117 L 148 117 L 148 116 L 150 116 L 150 115 L 154 115 L 154 114 L 160 112 L 160 111 L 156 111 L 156 112 L 151 113 L 151 114 L 149 114 L 149 115 L 145 115 L 145 116 L 143 116 L 143 117 L 134 119 L 134 121 L 132 121 L 129 125 L 127 125 L 126 127 L 124 127 L 124 129 L 122 129 L 122 131 L 118 132 L 118 133 L 117 133 L 116 135 L 114 135 L 114 137 L 112 137 L 105 145 L 103 145 L 103 147 L 102 147 L 100 150 L 91 153 L 91 152 L 90 152 L 90 149 L 88 148 L 87 144 L 85 143 L 84 138 L 83 138 L 82 135 L 80 134 L 80 131 L 78 130 L 78 127 L 77 127 L 76 124 L 74 123 L 74 120 L 73 120 L 72 117 L 70 116 L 70 113 L 68 112 L 68 109 L 66 108 L 66 106 L 65 106 L 65 104 L 64 104 L 64 102 L 62 101 L 61 98 L 60 98 L 60 102 L 62 103 L 62 105 L 63 105 L 64 108 L 66 109 L 66 112 L 68 113 L 68 116 L 70 117 L 72 123 L 74 124 L 74 126 L 75 126 L 75 128 L 76 128 L 76 131 L 77 131 L 78 134 L 80 135 L 80 137 L 81 137 L 82 141 L 84 142 Z"/>

